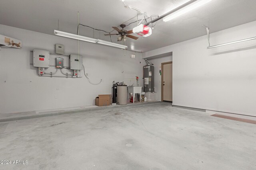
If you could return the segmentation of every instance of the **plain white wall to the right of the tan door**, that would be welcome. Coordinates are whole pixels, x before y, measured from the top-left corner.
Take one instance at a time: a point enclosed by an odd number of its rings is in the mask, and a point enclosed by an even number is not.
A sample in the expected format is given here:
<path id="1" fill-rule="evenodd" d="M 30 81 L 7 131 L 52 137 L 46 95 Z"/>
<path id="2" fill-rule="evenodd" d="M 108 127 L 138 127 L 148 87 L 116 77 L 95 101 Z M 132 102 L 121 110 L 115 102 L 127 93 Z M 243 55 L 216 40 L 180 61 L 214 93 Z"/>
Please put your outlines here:
<path id="1" fill-rule="evenodd" d="M 255 30 L 256 21 L 246 23 L 211 33 L 210 42 L 255 37 Z M 202 36 L 143 53 L 142 58 L 173 52 L 174 105 L 256 116 L 255 44 L 253 40 L 206 49 L 207 36 Z"/>

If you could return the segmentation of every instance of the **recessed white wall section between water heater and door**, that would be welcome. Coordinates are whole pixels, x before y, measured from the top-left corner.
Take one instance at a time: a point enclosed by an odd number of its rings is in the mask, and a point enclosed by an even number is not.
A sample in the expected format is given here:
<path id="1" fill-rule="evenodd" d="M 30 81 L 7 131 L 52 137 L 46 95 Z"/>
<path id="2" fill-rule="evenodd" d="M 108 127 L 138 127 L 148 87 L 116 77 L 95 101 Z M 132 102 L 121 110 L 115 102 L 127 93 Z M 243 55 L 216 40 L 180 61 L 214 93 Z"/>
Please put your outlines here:
<path id="1" fill-rule="evenodd" d="M 154 90 L 157 93 L 157 100 L 161 101 L 161 75 L 159 73 L 161 63 L 172 61 L 172 56 L 159 57 L 156 59 L 148 59 L 148 61 L 154 64 Z"/>

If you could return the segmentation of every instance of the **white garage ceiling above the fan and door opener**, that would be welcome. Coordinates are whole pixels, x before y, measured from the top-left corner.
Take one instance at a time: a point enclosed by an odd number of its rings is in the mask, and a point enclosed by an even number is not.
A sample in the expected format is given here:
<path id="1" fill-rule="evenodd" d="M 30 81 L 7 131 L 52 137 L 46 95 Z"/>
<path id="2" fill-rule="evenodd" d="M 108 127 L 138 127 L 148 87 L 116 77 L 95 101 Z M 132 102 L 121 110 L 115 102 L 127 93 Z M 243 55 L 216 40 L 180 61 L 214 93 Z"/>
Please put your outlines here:
<path id="1" fill-rule="evenodd" d="M 147 15 L 162 15 L 189 0 L 125 0 L 127 5 L 146 12 Z M 138 40 L 128 39 L 128 50 L 145 52 L 188 39 L 206 35 L 202 25 L 211 32 L 220 31 L 256 20 L 256 0 L 212 0 L 208 4 L 184 14 L 172 21 L 156 23 L 149 37 Z M 1 0 L 0 24 L 53 34 L 54 29 L 75 33 L 79 11 L 80 23 L 112 31 L 136 16 L 137 12 L 124 8 L 120 0 Z M 142 15 L 139 16 L 139 19 Z M 136 18 L 126 22 L 136 21 Z M 155 24 L 155 23 L 154 23 Z M 126 27 L 130 30 L 136 23 Z M 116 33 L 113 31 L 112 33 Z M 80 27 L 80 35 L 110 41 L 102 31 Z M 117 42 L 117 35 L 112 41 Z"/>

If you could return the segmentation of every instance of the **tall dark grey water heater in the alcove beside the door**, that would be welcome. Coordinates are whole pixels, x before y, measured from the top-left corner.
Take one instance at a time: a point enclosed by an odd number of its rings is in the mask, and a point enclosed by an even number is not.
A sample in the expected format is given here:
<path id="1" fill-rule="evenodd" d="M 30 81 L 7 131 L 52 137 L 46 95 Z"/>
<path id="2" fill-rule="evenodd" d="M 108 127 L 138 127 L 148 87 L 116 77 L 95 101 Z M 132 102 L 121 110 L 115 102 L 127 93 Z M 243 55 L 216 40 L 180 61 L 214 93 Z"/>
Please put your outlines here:
<path id="1" fill-rule="evenodd" d="M 147 65 L 143 66 L 144 92 L 154 92 L 154 66 L 145 59 Z"/>

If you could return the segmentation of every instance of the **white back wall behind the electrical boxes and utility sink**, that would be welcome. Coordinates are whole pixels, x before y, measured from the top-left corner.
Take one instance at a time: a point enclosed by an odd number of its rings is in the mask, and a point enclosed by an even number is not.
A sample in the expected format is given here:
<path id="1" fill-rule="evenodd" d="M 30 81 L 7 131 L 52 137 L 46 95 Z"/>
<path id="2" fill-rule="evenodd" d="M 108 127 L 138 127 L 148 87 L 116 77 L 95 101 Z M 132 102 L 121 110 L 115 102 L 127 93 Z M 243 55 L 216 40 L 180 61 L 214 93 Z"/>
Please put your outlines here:
<path id="1" fill-rule="evenodd" d="M 131 59 L 134 52 L 126 51 L 124 56 L 124 50 L 80 41 L 79 53 L 89 78 L 94 83 L 102 79 L 94 86 L 83 74 L 83 78 L 40 77 L 32 66 L 33 49 L 54 53 L 59 43 L 65 46 L 66 55 L 77 54 L 78 41 L 6 25 L 0 25 L 0 34 L 22 40 L 22 49 L 0 50 L 0 113 L 94 105 L 98 94 L 111 94 L 113 80 L 129 84 L 131 75 L 139 76 L 142 86 L 141 53 Z"/>

